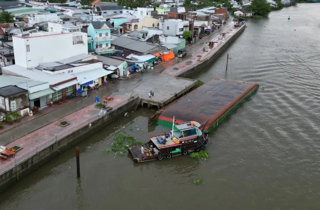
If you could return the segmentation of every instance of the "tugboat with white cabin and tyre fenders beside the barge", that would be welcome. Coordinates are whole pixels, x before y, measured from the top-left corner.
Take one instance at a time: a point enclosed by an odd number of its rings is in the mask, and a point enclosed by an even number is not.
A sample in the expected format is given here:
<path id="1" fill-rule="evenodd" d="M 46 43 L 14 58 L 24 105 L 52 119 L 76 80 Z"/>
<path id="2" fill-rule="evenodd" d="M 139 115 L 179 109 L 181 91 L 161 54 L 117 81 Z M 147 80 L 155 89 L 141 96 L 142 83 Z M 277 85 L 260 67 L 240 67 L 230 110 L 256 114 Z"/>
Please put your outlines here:
<path id="1" fill-rule="evenodd" d="M 208 141 L 208 131 L 202 132 L 199 126 L 195 121 L 174 124 L 173 117 L 169 133 L 151 136 L 143 145 L 128 148 L 128 152 L 134 161 L 144 162 L 200 151 Z"/>

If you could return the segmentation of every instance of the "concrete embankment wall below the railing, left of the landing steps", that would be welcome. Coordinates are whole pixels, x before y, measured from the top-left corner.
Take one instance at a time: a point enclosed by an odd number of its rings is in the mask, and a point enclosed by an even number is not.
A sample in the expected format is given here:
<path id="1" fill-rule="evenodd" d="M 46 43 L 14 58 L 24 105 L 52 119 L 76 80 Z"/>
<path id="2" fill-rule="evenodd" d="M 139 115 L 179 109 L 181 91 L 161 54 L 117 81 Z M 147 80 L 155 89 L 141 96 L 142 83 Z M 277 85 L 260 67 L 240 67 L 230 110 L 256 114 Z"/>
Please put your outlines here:
<path id="1" fill-rule="evenodd" d="M 6 171 L 0 175 L 0 192 L 6 188 L 12 186 L 19 179 L 23 178 L 30 172 L 33 172 L 36 168 L 43 165 L 59 153 L 65 151 L 67 148 L 73 146 L 74 144 L 84 140 L 88 136 L 92 135 L 96 131 L 105 127 L 110 123 L 117 115 L 122 114 L 126 110 L 132 108 L 134 103 L 140 100 L 139 97 L 128 101 L 124 105 L 114 109 L 113 111 L 107 113 L 103 117 L 96 119 L 91 122 L 91 126 L 86 125 L 81 129 L 74 131 L 73 133 L 65 136 L 51 146 L 37 152 L 27 160 L 17 164 L 12 169 Z"/>

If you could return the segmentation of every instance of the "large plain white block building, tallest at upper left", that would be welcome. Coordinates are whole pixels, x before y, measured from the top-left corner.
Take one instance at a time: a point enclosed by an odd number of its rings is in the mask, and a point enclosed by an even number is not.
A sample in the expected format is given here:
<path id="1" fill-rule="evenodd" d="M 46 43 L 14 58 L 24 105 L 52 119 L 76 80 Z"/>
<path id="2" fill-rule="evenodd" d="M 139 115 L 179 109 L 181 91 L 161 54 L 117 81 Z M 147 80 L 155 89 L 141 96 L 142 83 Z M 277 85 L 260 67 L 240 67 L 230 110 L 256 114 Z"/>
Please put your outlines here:
<path id="1" fill-rule="evenodd" d="M 12 36 L 15 64 L 32 68 L 78 54 L 87 54 L 87 34 L 36 32 Z"/>

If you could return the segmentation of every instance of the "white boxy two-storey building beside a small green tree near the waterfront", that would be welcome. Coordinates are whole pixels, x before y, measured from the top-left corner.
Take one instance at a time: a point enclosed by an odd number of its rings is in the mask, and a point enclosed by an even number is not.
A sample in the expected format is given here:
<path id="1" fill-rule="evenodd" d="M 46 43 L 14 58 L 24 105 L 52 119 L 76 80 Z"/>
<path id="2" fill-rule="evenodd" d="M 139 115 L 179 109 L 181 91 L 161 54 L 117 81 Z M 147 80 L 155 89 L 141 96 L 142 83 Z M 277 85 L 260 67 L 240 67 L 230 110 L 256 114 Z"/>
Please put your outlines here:
<path id="1" fill-rule="evenodd" d="M 182 19 L 165 19 L 160 23 L 159 29 L 165 35 L 182 35 L 183 31 L 189 30 L 189 21 Z"/>

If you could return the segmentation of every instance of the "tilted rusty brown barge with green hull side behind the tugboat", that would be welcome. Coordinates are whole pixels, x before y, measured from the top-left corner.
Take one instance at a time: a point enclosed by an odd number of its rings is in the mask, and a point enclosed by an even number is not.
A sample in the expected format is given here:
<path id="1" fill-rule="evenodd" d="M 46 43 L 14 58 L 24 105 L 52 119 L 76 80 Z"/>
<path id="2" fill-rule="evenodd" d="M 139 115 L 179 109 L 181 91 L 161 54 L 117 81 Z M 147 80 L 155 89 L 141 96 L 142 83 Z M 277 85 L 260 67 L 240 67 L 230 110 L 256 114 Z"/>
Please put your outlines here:
<path id="1" fill-rule="evenodd" d="M 256 83 L 212 79 L 162 107 L 149 118 L 148 124 L 157 123 L 170 128 L 175 116 L 176 123 L 194 120 L 201 124 L 202 130 L 210 131 L 258 87 Z"/>

